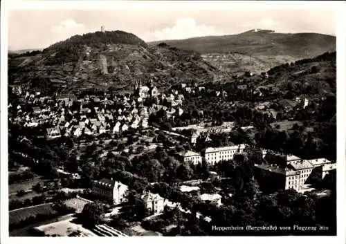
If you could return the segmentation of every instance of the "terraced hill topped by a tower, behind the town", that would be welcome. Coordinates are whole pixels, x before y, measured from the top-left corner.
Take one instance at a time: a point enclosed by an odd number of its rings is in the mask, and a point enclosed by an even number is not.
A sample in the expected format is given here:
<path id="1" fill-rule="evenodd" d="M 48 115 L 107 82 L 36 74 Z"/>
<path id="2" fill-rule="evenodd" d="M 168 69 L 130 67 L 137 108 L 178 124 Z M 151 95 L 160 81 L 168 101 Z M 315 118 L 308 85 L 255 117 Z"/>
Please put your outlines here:
<path id="1" fill-rule="evenodd" d="M 76 35 L 28 55 L 9 55 L 9 84 L 26 84 L 46 93 L 86 89 L 131 91 L 134 80 L 153 79 L 159 88 L 206 82 L 222 73 L 199 53 L 170 46 L 147 46 L 122 31 Z"/>

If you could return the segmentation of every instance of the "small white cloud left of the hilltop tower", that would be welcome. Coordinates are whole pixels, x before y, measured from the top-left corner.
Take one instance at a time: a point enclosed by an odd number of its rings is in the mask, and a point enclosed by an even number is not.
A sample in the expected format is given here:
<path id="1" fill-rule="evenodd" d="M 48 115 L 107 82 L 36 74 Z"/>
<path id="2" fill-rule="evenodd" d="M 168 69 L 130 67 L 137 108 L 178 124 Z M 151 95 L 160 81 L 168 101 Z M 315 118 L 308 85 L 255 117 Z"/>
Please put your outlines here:
<path id="1" fill-rule="evenodd" d="M 55 35 L 56 41 L 68 39 L 73 35 L 81 35 L 86 32 L 83 24 L 78 24 L 74 19 L 64 19 L 58 26 L 52 26 L 51 32 Z"/>

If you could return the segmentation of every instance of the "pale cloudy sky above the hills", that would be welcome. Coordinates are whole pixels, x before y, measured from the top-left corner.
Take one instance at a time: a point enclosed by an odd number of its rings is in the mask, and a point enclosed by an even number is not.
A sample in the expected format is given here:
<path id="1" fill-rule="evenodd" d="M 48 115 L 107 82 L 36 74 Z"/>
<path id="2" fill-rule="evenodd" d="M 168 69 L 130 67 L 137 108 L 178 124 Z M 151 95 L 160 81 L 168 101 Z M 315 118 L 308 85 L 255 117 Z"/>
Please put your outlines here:
<path id="1" fill-rule="evenodd" d="M 332 9 L 122 9 L 8 11 L 8 48 L 46 48 L 73 35 L 123 30 L 144 41 L 232 35 L 262 28 L 336 35 Z"/>

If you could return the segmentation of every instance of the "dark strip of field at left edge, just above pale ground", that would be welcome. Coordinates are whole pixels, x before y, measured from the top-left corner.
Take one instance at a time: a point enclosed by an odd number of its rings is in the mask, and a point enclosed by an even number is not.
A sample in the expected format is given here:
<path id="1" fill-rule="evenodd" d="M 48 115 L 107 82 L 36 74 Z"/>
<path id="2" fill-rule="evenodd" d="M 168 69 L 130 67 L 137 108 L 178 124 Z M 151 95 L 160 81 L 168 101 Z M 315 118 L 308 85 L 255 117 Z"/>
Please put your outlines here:
<path id="1" fill-rule="evenodd" d="M 24 207 L 21 209 L 15 209 L 10 211 L 9 214 L 9 224 L 17 224 L 21 220 L 28 218 L 29 216 L 37 215 L 37 214 L 54 214 L 51 203 L 45 203 L 43 205 L 37 205 L 33 207 Z"/>

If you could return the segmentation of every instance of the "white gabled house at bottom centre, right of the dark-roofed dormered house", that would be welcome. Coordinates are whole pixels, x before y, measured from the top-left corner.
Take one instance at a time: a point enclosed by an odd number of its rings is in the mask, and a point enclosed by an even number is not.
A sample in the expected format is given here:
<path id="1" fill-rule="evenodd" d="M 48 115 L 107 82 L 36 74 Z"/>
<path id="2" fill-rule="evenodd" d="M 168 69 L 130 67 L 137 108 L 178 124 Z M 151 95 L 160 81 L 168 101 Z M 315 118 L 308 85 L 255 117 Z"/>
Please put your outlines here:
<path id="1" fill-rule="evenodd" d="M 143 205 L 150 215 L 161 214 L 165 199 L 158 194 L 152 194 L 150 191 L 144 191 L 143 194 L 135 197 L 135 205 Z"/>

